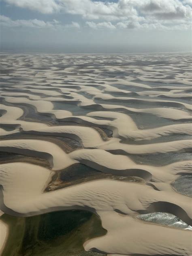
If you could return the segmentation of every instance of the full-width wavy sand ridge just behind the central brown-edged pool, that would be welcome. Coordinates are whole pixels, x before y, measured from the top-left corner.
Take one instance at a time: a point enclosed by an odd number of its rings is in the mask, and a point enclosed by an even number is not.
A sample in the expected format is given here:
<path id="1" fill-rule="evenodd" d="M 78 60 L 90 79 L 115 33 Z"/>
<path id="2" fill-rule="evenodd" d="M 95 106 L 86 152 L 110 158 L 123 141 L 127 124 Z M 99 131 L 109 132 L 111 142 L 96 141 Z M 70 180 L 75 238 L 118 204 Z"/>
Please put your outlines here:
<path id="1" fill-rule="evenodd" d="M 135 176 L 139 175 L 147 180 L 165 183 L 174 181 L 178 177 L 177 173 L 192 173 L 188 161 L 154 167 L 136 164 L 128 156 L 113 155 L 102 149 L 79 149 L 66 154 L 61 147 L 52 142 L 35 139 L 4 140 L 0 142 L 0 150 L 28 156 L 41 156 L 49 161 L 53 170 L 64 169 L 76 162 L 81 162 L 99 171 L 116 175 L 129 175 L 131 172 L 127 170 L 134 170 Z M 168 150 L 167 146 L 166 150 Z M 138 170 L 140 170 L 139 174 Z"/>

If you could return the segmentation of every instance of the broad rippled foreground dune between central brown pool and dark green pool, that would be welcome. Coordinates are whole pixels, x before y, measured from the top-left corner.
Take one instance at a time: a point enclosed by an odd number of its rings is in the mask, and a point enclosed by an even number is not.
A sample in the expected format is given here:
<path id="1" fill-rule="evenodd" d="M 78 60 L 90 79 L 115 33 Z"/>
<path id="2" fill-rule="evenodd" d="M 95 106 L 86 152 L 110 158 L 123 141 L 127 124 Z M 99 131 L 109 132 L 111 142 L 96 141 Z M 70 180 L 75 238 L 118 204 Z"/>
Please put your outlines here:
<path id="1" fill-rule="evenodd" d="M 88 207 L 97 213 L 118 210 L 132 214 L 146 210 L 152 203 L 164 201 L 177 205 L 188 216 L 192 215 L 190 197 L 175 192 L 157 191 L 151 186 L 139 183 L 99 180 L 42 194 L 51 174 L 43 167 L 34 167 L 33 164 L 20 162 L 1 165 L 0 181 L 5 205 L 3 211 L 11 209 L 16 215 L 17 213 L 33 215 L 60 207 L 62 209 Z M 22 203 L 18 204 L 18 200 Z"/>

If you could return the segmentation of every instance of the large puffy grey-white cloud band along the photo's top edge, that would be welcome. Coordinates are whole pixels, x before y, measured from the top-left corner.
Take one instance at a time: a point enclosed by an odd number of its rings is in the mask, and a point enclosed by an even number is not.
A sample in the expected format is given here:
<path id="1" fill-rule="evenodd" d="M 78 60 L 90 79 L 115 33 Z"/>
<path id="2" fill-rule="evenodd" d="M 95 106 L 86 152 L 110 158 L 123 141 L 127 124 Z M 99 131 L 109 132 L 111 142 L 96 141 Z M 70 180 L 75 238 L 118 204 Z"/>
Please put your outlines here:
<path id="1" fill-rule="evenodd" d="M 188 17 L 192 0 L 4 0 L 9 4 L 39 11 L 54 13 L 63 11 L 73 15 L 81 15 L 86 19 L 126 19 L 140 15 L 154 13 L 181 13 Z M 179 17 L 180 17 L 179 15 Z M 175 18 L 175 17 L 174 17 Z"/>

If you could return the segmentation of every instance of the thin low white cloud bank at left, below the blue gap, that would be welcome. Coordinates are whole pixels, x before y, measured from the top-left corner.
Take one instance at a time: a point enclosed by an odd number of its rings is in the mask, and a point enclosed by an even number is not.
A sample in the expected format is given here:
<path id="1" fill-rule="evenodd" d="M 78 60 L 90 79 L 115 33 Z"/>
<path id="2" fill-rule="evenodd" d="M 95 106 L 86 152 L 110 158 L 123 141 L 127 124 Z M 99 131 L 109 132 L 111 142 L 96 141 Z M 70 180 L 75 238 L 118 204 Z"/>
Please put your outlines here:
<path id="1" fill-rule="evenodd" d="M 26 28 L 52 28 L 52 29 L 64 29 L 64 28 L 80 28 L 79 23 L 73 22 L 71 24 L 61 24 L 59 21 L 53 19 L 53 21 L 42 21 L 38 19 L 17 19 L 12 20 L 9 17 L 0 15 L 0 22 L 2 26 L 6 27 L 26 27 Z"/>

